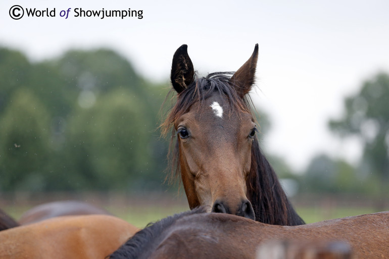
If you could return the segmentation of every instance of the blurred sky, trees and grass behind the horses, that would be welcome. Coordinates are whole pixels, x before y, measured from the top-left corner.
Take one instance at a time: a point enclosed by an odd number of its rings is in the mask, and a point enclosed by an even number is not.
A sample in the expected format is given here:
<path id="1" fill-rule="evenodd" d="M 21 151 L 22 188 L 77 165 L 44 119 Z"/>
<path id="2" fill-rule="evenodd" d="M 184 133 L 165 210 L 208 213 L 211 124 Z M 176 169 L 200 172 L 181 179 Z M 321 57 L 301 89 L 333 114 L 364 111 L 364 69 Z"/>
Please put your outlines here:
<path id="1" fill-rule="evenodd" d="M 14 217 L 79 199 L 142 227 L 188 209 L 158 128 L 183 43 L 203 76 L 259 43 L 260 144 L 304 220 L 389 210 L 387 1 L 16 4 L 55 17 L 0 3 L 0 207 Z"/>

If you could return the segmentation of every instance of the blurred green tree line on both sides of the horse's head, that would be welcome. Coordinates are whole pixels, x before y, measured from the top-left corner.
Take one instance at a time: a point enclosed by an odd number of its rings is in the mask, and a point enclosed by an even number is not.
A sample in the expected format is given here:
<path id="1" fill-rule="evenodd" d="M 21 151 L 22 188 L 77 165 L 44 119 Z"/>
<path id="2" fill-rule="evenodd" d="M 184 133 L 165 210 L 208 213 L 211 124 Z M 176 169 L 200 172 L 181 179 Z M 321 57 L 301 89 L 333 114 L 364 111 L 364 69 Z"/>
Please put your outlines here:
<path id="1" fill-rule="evenodd" d="M 32 63 L 0 47 L 0 191 L 165 190 L 168 141 L 158 125 L 170 87 L 142 78 L 110 49 Z M 266 134 L 270 120 L 259 114 Z M 328 126 L 360 140 L 360 163 L 319 154 L 298 176 L 270 156 L 279 177 L 295 179 L 300 192 L 388 190 L 389 75 L 363 82 Z"/>

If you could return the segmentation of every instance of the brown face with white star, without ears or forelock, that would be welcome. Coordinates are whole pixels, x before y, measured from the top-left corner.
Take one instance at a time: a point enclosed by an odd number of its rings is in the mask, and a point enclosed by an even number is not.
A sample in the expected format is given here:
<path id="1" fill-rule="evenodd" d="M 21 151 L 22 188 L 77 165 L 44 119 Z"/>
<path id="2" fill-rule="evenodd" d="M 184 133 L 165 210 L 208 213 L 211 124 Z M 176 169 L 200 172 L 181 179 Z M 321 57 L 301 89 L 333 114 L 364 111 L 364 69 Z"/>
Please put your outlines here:
<path id="1" fill-rule="evenodd" d="M 194 103 L 176 122 L 181 177 L 190 208 L 255 219 L 246 197 L 256 124 L 214 94 Z"/>

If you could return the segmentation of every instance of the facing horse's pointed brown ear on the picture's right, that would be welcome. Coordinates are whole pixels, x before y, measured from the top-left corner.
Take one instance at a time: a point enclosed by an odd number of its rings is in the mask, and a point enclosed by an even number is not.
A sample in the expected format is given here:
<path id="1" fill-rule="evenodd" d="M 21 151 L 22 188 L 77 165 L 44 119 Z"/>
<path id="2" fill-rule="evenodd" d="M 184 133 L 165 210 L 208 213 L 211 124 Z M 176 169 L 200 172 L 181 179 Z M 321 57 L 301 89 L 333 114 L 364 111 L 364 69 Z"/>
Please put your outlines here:
<path id="1" fill-rule="evenodd" d="M 245 96 L 254 84 L 257 61 L 258 43 L 255 44 L 254 52 L 250 59 L 246 61 L 246 63 L 241 66 L 230 79 L 240 97 Z"/>

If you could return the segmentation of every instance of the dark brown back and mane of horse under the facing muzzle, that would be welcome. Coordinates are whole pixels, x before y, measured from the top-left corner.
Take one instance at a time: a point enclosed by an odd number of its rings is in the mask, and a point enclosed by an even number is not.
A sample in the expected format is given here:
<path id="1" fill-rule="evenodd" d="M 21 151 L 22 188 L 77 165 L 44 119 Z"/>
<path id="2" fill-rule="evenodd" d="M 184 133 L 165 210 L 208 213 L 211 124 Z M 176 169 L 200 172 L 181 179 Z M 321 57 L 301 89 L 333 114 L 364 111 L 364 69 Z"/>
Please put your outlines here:
<path id="1" fill-rule="evenodd" d="M 297 227 L 205 212 L 205 207 L 198 207 L 148 225 L 109 258 L 256 258 L 258 248 L 267 251 L 260 258 L 387 258 L 389 254 L 389 212 Z"/>

